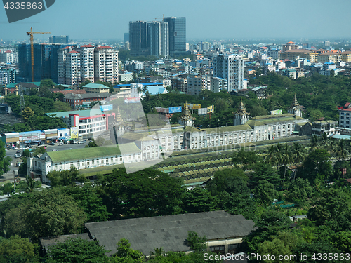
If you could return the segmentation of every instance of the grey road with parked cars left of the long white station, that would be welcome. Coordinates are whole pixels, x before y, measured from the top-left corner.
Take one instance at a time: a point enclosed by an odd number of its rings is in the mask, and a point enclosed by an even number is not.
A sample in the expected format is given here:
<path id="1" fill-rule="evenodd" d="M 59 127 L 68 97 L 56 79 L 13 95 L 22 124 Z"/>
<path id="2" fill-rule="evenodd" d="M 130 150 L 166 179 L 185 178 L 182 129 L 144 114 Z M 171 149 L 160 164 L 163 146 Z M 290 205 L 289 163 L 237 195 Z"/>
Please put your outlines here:
<path id="1" fill-rule="evenodd" d="M 55 145 L 48 145 L 48 147 L 46 147 L 46 151 L 50 152 L 50 151 L 53 151 L 53 149 L 58 151 L 64 151 L 64 150 L 68 150 L 69 148 L 80 149 L 80 148 L 84 148 L 86 145 L 88 145 L 88 141 L 86 141 L 84 144 L 77 143 L 77 144 L 58 145 L 56 143 Z M 0 182 L 5 180 L 13 180 L 13 171 L 15 171 L 16 176 L 18 175 L 18 167 L 16 166 L 16 164 L 21 162 L 22 158 L 15 158 L 16 151 L 17 150 L 12 150 L 12 149 L 6 151 L 6 156 L 10 156 L 12 161 L 11 161 L 10 171 L 0 176 Z M 21 151 L 20 154 L 23 154 L 23 150 L 20 150 L 20 151 Z"/>

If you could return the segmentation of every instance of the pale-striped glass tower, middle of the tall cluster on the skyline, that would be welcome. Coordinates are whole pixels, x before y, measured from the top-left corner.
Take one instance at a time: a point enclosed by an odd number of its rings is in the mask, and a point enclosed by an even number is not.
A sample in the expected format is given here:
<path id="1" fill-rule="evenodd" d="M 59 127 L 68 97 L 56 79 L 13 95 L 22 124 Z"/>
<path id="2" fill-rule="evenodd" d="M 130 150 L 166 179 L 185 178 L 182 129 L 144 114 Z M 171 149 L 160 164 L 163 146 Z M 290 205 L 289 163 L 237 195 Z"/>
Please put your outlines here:
<path id="1" fill-rule="evenodd" d="M 154 55 L 156 57 L 163 56 L 164 58 L 168 58 L 168 23 L 155 21 L 148 22 L 147 24 L 150 39 L 150 55 Z"/>

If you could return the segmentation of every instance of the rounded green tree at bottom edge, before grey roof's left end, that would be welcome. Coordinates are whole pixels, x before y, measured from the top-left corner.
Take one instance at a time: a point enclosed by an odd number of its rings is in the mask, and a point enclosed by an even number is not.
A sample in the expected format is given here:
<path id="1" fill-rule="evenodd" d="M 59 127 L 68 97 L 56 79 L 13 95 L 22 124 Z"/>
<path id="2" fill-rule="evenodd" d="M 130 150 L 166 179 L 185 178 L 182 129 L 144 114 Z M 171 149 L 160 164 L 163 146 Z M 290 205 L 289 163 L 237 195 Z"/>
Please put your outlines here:
<path id="1" fill-rule="evenodd" d="M 79 238 L 69 238 L 64 242 L 52 245 L 45 257 L 48 263 L 109 263 L 105 255 L 108 252 L 95 241 Z"/>

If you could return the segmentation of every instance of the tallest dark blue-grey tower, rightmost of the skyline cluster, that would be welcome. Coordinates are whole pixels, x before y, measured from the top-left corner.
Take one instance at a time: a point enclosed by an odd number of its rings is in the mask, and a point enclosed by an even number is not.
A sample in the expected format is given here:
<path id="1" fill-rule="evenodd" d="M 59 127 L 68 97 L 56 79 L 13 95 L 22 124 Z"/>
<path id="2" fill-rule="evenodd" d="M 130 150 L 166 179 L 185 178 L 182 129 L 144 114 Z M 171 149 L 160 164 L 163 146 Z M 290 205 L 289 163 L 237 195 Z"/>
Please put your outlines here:
<path id="1" fill-rule="evenodd" d="M 184 55 L 186 52 L 186 20 L 185 17 L 164 18 L 168 23 L 169 32 L 169 54 L 171 56 Z"/>

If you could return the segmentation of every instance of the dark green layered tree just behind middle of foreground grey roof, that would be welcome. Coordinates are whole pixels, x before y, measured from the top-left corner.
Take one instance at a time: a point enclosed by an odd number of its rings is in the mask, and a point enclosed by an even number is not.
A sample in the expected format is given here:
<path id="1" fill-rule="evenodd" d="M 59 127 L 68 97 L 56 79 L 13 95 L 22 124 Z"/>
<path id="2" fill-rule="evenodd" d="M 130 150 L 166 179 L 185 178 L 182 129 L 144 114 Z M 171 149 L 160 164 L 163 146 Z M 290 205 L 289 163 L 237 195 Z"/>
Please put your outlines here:
<path id="1" fill-rule="evenodd" d="M 183 198 L 183 211 L 185 213 L 199 213 L 218 210 L 220 199 L 212 196 L 209 191 L 197 187 L 187 191 Z"/>

